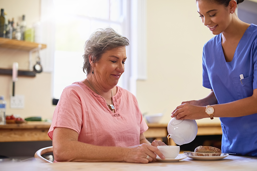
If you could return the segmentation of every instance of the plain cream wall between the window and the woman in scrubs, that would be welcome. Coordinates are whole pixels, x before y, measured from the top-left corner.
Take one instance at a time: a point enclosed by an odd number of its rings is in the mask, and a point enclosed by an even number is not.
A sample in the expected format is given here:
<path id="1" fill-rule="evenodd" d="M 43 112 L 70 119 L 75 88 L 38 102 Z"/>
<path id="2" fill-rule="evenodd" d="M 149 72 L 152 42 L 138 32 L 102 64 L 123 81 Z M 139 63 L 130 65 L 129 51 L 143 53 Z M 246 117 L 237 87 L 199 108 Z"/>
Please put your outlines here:
<path id="1" fill-rule="evenodd" d="M 142 113 L 165 112 L 163 123 L 182 101 L 210 92 L 202 86 L 202 49 L 214 35 L 203 25 L 192 0 L 147 0 L 147 80 L 137 81 Z"/>

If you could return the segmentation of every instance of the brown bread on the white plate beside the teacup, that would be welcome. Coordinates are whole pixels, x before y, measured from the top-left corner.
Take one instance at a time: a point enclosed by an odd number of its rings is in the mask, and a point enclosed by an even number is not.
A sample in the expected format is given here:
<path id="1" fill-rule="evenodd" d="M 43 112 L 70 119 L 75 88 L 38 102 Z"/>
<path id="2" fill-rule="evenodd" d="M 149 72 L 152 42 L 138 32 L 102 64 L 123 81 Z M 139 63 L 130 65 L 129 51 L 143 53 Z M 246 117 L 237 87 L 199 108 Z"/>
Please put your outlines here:
<path id="1" fill-rule="evenodd" d="M 191 152 L 192 156 L 220 156 L 221 150 L 216 147 L 199 146 L 196 147 L 195 152 Z"/>

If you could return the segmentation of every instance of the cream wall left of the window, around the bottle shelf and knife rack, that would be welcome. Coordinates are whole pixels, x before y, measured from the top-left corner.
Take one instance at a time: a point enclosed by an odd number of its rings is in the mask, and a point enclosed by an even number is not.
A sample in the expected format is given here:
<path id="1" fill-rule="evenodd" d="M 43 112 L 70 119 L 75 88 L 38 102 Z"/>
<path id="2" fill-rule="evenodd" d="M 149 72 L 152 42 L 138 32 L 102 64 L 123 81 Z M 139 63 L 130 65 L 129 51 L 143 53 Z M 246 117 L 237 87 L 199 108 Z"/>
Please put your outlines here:
<path id="1" fill-rule="evenodd" d="M 7 12 L 8 19 L 14 18 L 15 27 L 16 22 L 22 20 L 22 15 L 25 15 L 28 27 L 40 21 L 40 0 L 0 0 L 0 8 Z M 13 62 L 18 62 L 20 70 L 28 70 L 28 55 L 26 51 L 0 48 L 0 67 L 11 69 Z M 4 95 L 7 102 L 6 115 L 17 114 L 23 118 L 42 116 L 43 119 L 51 119 L 55 109 L 51 104 L 51 76 L 51 73 L 45 72 L 34 78 L 19 76 L 15 94 L 24 95 L 25 107 L 11 109 L 12 76 L 0 75 L 0 95 Z"/>

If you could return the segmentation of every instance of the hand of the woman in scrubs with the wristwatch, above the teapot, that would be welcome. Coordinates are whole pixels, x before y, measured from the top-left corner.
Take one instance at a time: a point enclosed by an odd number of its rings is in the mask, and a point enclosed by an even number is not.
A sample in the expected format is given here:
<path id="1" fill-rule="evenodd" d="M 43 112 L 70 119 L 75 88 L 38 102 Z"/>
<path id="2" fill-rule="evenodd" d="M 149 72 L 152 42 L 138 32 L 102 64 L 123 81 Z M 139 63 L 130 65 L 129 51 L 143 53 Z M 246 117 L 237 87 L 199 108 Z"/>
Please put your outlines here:
<path id="1" fill-rule="evenodd" d="M 171 117 L 176 117 L 177 120 L 207 118 L 208 115 L 205 113 L 205 108 L 206 107 L 203 106 L 184 103 L 176 107 L 176 109 L 171 113 Z"/>

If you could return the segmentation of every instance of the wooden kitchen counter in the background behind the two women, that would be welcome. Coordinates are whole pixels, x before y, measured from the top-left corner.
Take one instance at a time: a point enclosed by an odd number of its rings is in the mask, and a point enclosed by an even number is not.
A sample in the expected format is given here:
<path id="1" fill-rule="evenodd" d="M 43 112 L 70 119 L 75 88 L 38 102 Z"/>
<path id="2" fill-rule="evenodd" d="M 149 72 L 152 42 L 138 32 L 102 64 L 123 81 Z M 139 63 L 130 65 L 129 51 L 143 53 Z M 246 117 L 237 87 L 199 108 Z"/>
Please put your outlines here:
<path id="1" fill-rule="evenodd" d="M 222 135 L 219 120 L 209 120 L 196 120 L 198 126 L 197 135 Z M 146 138 L 162 140 L 163 137 L 167 137 L 168 123 L 147 123 L 147 125 L 149 129 L 144 132 Z M 0 125 L 0 142 L 50 141 L 47 135 L 50 126 L 50 122 L 37 121 Z M 176 144 L 171 140 L 170 145 Z"/>

